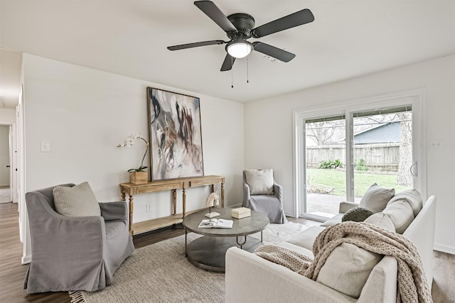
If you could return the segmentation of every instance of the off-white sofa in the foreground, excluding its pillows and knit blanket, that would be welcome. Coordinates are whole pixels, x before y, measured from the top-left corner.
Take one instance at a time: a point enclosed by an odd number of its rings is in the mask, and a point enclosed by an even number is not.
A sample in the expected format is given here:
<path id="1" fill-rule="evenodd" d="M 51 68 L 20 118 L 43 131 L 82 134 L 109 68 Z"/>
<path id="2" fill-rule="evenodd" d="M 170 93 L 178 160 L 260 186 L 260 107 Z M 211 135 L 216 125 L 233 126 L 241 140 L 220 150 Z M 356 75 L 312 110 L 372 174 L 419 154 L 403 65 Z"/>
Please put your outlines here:
<path id="1" fill-rule="evenodd" d="M 434 196 L 429 197 L 427 202 L 421 202 L 422 204 L 421 210 L 414 209 L 415 217 L 412 216 L 412 221 L 410 224 L 408 222 L 409 226 L 402 234 L 417 248 L 431 290 L 436 199 Z M 388 211 L 390 216 L 391 205 L 387 204 L 382 213 L 386 214 Z M 325 225 L 341 221 L 343 212 L 354 206 L 358 204 L 342 202 L 341 214 L 326 221 Z M 398 221 L 400 220 L 402 221 L 402 217 L 398 218 Z M 403 229 L 405 226 L 397 227 L 397 229 Z M 322 226 L 308 228 L 279 245 L 312 258 L 312 243 L 323 228 Z M 260 258 L 254 253 L 235 247 L 228 249 L 226 253 L 226 302 L 396 302 L 397 260 L 395 258 L 390 256 L 382 258 L 374 265 L 366 279 L 360 296 L 355 298 L 299 275 L 282 265 Z"/>

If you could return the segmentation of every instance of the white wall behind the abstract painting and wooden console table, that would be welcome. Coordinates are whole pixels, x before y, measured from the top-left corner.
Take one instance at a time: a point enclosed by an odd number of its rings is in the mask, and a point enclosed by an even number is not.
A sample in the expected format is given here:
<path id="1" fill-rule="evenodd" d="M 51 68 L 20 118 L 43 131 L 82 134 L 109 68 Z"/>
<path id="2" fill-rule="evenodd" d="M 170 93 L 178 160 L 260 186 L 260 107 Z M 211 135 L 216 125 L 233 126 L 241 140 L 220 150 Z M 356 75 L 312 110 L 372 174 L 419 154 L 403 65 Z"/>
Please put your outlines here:
<path id="1" fill-rule="evenodd" d="M 200 97 L 205 175 L 225 176 L 225 204 L 241 203 L 243 104 L 28 54 L 23 76 L 27 192 L 88 181 L 100 202 L 119 201 L 119 183 L 129 182 L 127 170 L 139 166 L 144 146 L 116 146 L 132 133 L 149 136 L 151 86 Z M 43 141 L 50 153 L 41 153 Z M 144 163 L 150 167 L 148 155 Z M 187 210 L 205 206 L 208 193 L 188 189 Z M 181 190 L 177 197 L 181 211 Z M 137 195 L 134 202 L 134 222 L 171 214 L 171 192 Z"/>

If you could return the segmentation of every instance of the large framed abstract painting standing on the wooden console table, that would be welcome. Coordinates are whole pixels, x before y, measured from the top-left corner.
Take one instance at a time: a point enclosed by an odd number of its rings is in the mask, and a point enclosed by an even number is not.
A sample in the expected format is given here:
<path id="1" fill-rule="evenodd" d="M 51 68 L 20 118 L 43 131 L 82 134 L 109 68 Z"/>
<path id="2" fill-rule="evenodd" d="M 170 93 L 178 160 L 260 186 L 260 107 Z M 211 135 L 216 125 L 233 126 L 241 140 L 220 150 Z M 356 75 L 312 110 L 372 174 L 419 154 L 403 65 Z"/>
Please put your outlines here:
<path id="1" fill-rule="evenodd" d="M 199 98 L 147 87 L 151 180 L 202 177 Z"/>

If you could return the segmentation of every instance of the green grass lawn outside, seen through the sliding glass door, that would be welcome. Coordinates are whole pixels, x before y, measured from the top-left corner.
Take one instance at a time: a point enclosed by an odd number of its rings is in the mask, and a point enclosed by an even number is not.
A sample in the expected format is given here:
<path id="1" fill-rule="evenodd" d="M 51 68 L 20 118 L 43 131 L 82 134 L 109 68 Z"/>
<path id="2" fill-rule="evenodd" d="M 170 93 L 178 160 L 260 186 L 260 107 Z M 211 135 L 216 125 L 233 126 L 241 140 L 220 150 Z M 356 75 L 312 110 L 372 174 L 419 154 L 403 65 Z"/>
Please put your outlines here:
<path id="1" fill-rule="evenodd" d="M 346 172 L 316 168 L 309 168 L 306 172 L 306 180 L 308 180 L 310 187 L 333 187 L 333 191 L 328 192 L 328 194 L 346 197 Z M 402 192 L 405 189 L 412 188 L 398 185 L 397 175 L 375 175 L 354 171 L 355 197 L 362 197 L 373 183 L 385 188 L 395 188 L 395 192 Z"/>

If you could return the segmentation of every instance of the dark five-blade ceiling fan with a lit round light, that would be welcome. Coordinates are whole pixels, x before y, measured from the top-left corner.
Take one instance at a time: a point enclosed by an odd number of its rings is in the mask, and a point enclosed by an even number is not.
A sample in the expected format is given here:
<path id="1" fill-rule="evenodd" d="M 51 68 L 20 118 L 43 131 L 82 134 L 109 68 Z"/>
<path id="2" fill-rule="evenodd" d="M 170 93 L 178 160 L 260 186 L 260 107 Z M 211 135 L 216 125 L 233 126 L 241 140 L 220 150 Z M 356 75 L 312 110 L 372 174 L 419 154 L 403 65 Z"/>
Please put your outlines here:
<path id="1" fill-rule="evenodd" d="M 277 33 L 314 21 L 313 13 L 311 13 L 309 9 L 302 9 L 301 11 L 296 11 L 288 16 L 284 16 L 255 28 L 255 18 L 247 13 L 232 13 L 232 15 L 225 16 L 212 1 L 195 1 L 194 4 L 198 6 L 205 15 L 215 21 L 215 23 L 226 32 L 226 35 L 228 35 L 230 40 L 210 40 L 173 45 L 168 46 L 168 50 L 184 50 L 186 48 L 197 48 L 198 46 L 205 45 L 227 44 L 225 48 L 227 54 L 223 65 L 221 66 L 222 72 L 231 70 L 236 58 L 246 57 L 247 55 L 250 55 L 252 50 L 277 58 L 283 62 L 291 61 L 296 56 L 293 53 L 259 41 L 250 43 L 247 39 L 262 38 L 272 33 Z"/>

